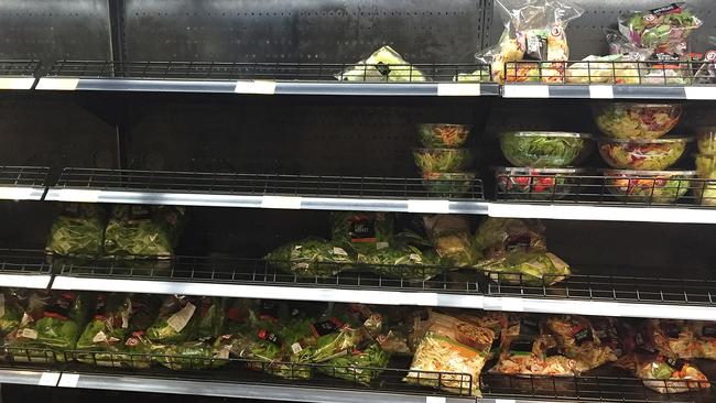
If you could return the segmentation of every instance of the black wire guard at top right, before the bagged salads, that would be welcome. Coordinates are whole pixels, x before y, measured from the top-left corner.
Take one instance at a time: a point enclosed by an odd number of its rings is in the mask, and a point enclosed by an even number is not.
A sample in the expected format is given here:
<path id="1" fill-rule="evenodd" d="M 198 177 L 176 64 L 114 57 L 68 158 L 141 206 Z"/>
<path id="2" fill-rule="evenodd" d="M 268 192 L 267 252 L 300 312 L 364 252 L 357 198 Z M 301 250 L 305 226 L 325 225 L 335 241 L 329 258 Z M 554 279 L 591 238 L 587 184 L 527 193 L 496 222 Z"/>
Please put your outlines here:
<path id="1" fill-rule="evenodd" d="M 520 61 L 506 63 L 501 75 L 509 84 L 684 86 L 716 84 L 716 64 L 713 61 Z"/>

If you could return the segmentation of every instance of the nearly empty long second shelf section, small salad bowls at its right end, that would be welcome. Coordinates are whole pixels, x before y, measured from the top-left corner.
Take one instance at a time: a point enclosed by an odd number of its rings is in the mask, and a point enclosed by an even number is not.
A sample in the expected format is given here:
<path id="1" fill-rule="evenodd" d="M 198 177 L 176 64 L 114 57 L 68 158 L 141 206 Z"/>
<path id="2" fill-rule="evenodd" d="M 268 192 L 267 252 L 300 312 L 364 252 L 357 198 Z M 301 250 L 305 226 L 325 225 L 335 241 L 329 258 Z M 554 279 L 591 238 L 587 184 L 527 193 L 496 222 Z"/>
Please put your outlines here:
<path id="1" fill-rule="evenodd" d="M 421 178 L 65 168 L 45 200 L 317 210 L 484 214 L 482 183 L 444 199 Z"/>

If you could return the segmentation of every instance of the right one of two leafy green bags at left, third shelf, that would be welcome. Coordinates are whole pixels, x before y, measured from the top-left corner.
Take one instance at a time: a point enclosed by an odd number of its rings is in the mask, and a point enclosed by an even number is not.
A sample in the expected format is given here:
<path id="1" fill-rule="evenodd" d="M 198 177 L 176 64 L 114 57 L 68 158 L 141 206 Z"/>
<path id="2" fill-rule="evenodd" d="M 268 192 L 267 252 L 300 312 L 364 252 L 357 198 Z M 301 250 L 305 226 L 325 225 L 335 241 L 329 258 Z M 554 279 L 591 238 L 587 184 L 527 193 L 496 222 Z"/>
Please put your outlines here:
<path id="1" fill-rule="evenodd" d="M 105 231 L 105 253 L 171 258 L 185 220 L 184 207 L 115 206 Z"/>

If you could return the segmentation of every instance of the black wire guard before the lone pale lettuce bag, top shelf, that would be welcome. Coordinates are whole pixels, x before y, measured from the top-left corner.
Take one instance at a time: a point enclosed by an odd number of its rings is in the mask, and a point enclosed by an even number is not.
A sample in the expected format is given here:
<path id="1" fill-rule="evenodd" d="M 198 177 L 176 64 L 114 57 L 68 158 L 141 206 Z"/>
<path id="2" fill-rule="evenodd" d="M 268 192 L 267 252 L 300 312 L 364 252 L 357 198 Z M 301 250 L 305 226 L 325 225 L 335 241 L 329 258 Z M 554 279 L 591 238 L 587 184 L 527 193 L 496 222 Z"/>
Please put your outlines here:
<path id="1" fill-rule="evenodd" d="M 350 73 L 347 73 L 351 69 Z M 477 74 L 476 74 L 477 72 Z M 484 64 L 220 63 L 58 61 L 48 77 L 160 80 L 275 79 L 310 81 L 420 83 L 490 81 Z"/>

